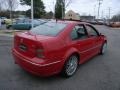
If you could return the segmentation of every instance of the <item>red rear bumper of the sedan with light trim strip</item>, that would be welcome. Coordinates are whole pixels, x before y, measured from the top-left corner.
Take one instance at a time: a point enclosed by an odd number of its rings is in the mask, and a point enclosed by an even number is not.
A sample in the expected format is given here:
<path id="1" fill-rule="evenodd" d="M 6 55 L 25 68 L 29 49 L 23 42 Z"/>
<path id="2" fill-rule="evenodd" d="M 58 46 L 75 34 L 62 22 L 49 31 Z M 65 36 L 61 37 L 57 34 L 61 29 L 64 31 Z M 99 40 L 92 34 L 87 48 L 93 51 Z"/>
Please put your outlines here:
<path id="1" fill-rule="evenodd" d="M 51 76 L 59 73 L 62 70 L 64 63 L 61 61 L 50 62 L 38 58 L 27 58 L 21 55 L 16 50 L 12 50 L 16 64 L 24 70 L 38 76 Z"/>

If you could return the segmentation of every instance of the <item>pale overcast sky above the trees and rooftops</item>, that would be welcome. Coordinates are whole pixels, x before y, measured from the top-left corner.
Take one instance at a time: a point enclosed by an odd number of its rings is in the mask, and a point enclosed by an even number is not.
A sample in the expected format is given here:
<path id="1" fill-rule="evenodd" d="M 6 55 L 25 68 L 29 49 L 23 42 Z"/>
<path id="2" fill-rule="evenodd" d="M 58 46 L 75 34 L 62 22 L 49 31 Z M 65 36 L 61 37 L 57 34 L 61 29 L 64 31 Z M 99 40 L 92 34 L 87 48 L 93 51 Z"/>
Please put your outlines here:
<path id="1" fill-rule="evenodd" d="M 45 4 L 46 11 L 53 11 L 56 0 L 42 0 Z M 100 9 L 100 16 L 109 15 L 109 7 L 111 8 L 111 16 L 120 12 L 120 0 L 103 0 Z M 17 10 L 27 10 L 29 7 L 19 5 Z M 73 10 L 80 15 L 96 15 L 98 12 L 98 0 L 73 0 L 67 7 L 66 11 Z"/>

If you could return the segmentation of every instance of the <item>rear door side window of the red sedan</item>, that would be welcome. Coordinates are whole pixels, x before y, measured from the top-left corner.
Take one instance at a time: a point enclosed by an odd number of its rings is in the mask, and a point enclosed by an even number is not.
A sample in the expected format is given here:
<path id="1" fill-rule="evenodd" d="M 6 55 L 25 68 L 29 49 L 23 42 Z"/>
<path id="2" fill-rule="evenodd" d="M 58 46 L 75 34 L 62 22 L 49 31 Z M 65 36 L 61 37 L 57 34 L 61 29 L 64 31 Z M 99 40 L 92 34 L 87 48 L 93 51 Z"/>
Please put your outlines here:
<path id="1" fill-rule="evenodd" d="M 74 27 L 73 31 L 71 32 L 71 39 L 77 40 L 77 39 L 83 39 L 87 37 L 85 28 L 83 25 L 77 25 Z"/>

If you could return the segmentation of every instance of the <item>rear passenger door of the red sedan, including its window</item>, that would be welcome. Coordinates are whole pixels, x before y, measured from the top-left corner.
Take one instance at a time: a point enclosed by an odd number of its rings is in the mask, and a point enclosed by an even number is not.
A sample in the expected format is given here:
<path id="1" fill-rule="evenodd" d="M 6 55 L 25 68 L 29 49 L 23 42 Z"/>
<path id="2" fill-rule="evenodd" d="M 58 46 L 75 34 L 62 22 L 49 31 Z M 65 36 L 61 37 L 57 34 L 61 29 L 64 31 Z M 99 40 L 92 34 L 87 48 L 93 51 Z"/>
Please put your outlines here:
<path id="1" fill-rule="evenodd" d="M 93 48 L 94 41 L 88 37 L 84 24 L 78 24 L 71 33 L 72 45 L 79 50 L 80 63 L 85 62 L 91 56 L 90 48 Z"/>

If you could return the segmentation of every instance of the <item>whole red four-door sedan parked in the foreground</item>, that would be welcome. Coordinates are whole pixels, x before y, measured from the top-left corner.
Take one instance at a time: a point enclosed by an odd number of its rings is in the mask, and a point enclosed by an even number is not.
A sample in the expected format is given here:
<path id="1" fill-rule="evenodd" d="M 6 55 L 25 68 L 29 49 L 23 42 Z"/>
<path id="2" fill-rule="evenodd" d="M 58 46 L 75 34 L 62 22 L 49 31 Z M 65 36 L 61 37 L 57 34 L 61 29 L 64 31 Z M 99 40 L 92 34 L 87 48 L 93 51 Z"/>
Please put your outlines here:
<path id="1" fill-rule="evenodd" d="M 14 36 L 15 63 L 40 76 L 72 76 L 79 64 L 104 54 L 107 39 L 92 25 L 76 21 L 49 21 Z"/>

